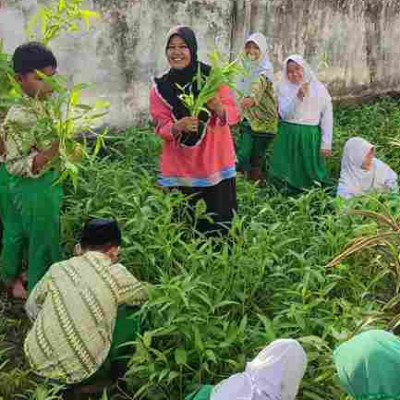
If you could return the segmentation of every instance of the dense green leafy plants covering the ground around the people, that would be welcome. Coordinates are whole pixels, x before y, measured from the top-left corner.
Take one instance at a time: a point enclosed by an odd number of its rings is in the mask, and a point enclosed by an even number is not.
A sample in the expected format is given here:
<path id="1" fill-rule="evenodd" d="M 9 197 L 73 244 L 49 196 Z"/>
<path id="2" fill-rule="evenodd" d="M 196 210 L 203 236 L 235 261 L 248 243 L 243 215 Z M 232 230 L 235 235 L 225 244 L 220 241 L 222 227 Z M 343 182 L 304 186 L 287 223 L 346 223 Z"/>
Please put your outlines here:
<path id="1" fill-rule="evenodd" d="M 355 135 L 377 144 L 379 156 L 400 170 L 398 150 L 389 145 L 399 136 L 398 101 L 340 106 L 335 121 L 334 175 L 342 145 Z M 362 329 L 396 326 L 397 248 L 365 250 L 327 268 L 355 237 L 377 233 L 375 220 L 350 215 L 349 205 L 319 190 L 287 198 L 242 178 L 233 245 L 202 241 L 171 220 L 183 198 L 157 188 L 159 151 L 151 129 L 115 137 L 86 165 L 77 192 L 67 189 L 63 213 L 66 256 L 86 218 L 116 216 L 124 229 L 122 262 L 155 285 L 142 309 L 146 332 L 126 377 L 127 398 L 183 399 L 200 383 L 242 370 L 278 337 L 297 338 L 307 350 L 302 399 L 345 398 L 332 350 Z M 381 201 L 396 215 L 393 199 Z M 351 207 L 382 210 L 373 198 Z M 26 324 L 18 306 L 0 300 L 0 399 L 34 399 L 29 390 L 38 390 L 21 354 Z"/>

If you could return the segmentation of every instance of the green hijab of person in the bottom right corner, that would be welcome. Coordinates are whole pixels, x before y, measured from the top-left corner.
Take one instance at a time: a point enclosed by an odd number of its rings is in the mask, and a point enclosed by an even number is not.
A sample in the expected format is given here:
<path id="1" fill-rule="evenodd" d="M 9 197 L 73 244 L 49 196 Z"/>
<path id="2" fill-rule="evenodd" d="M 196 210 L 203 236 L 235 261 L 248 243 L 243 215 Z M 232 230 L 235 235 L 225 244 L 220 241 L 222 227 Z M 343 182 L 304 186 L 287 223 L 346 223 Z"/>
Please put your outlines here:
<path id="1" fill-rule="evenodd" d="M 356 400 L 400 400 L 400 339 L 371 330 L 340 345 L 334 361 L 343 389 Z"/>

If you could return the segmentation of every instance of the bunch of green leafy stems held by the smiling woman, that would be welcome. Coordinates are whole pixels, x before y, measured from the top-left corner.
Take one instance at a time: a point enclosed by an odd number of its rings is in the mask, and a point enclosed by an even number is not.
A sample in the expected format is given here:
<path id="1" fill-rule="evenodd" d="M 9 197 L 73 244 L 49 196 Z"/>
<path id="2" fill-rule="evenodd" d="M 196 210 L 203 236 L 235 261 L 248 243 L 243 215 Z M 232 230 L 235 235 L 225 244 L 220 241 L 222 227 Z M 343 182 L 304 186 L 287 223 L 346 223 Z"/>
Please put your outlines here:
<path id="1" fill-rule="evenodd" d="M 215 97 L 221 85 L 235 89 L 235 77 L 242 71 L 238 60 L 224 63 L 218 52 L 210 53 L 209 59 L 211 72 L 208 77 L 203 76 L 200 67 L 198 68 L 195 82 L 199 89 L 199 95 L 196 98 L 193 93 L 187 93 L 185 88 L 178 86 L 182 91 L 179 98 L 192 117 L 198 117 L 201 111 L 206 110 L 207 102 Z"/>

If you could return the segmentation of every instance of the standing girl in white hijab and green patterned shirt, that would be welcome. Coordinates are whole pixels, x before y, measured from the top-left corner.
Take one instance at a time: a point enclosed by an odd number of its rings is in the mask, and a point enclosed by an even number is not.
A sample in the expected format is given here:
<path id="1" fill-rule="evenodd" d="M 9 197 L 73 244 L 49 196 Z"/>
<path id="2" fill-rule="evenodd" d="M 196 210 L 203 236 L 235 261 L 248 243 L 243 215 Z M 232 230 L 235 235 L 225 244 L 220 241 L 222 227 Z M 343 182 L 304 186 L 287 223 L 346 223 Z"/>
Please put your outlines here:
<path id="1" fill-rule="evenodd" d="M 237 146 L 238 169 L 254 181 L 264 178 L 267 150 L 278 125 L 274 72 L 267 49 L 263 34 L 254 33 L 247 39 L 243 60 L 246 74 L 238 84 L 244 117 Z"/>

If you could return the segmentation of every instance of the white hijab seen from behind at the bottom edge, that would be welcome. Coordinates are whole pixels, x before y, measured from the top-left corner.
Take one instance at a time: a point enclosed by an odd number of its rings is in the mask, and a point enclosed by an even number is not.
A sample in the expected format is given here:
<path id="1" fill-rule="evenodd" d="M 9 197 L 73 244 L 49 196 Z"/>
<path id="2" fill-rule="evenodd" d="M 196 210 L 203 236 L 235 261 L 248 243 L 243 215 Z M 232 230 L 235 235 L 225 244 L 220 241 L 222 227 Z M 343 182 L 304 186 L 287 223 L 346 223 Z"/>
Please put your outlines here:
<path id="1" fill-rule="evenodd" d="M 211 400 L 295 400 L 306 367 L 299 342 L 275 340 L 247 363 L 244 373 L 215 387 Z"/>

